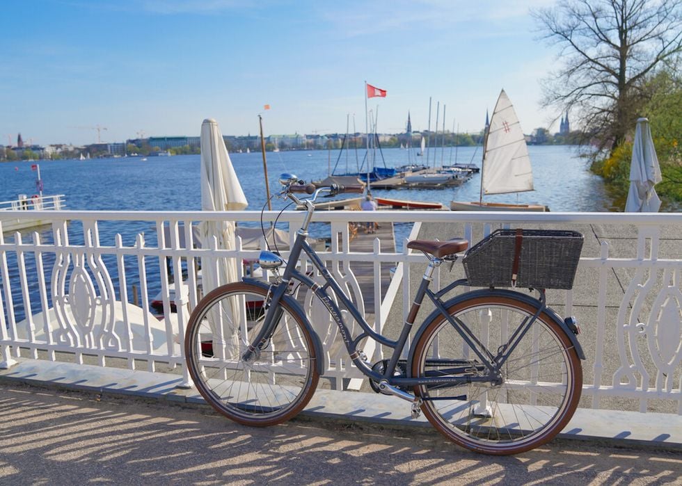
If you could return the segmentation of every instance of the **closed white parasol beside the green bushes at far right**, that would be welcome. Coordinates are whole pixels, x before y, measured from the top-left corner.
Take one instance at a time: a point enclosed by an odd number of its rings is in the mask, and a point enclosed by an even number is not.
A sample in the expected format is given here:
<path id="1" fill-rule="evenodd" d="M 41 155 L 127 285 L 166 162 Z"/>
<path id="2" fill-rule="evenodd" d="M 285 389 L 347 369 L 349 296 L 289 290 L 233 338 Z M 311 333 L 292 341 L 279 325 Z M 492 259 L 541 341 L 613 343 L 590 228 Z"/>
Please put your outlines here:
<path id="1" fill-rule="evenodd" d="M 661 181 L 660 167 L 656 148 L 653 147 L 651 128 L 647 118 L 637 120 L 635 143 L 633 143 L 633 159 L 630 166 L 630 192 L 625 204 L 629 213 L 656 213 L 660 208 L 660 199 L 654 190 Z"/>

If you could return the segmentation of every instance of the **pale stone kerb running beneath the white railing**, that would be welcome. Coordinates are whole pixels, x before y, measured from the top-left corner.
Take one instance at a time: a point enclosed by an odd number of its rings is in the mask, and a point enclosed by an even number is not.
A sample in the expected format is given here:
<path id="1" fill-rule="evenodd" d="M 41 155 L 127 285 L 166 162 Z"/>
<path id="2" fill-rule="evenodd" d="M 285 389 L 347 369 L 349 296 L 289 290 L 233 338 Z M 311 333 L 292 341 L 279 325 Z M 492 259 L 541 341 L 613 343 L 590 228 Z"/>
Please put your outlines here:
<path id="1" fill-rule="evenodd" d="M 9 370 L 0 370 L 0 384 L 3 382 L 86 391 L 100 396 L 133 396 L 169 405 L 205 404 L 196 389 L 178 387 L 182 378 L 169 373 L 19 359 Z M 411 431 L 431 428 L 423 415 L 411 419 L 410 405 L 406 401 L 374 392 L 318 388 L 302 414 L 320 424 L 334 422 L 355 426 L 370 423 Z M 429 432 L 434 437 L 438 435 L 435 430 Z M 579 408 L 560 437 L 682 452 L 682 417 Z"/>

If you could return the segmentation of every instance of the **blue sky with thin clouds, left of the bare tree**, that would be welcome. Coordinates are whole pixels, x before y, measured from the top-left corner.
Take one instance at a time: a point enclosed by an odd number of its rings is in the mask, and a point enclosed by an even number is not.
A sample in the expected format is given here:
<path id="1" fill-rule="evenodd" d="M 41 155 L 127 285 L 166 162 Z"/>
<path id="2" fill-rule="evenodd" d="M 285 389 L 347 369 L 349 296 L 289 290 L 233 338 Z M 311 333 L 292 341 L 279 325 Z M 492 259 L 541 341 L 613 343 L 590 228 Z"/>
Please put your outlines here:
<path id="1" fill-rule="evenodd" d="M 557 131 L 541 81 L 554 0 L 3 0 L 0 144 L 138 136 L 482 129 L 502 88 L 521 127 Z M 264 111 L 264 105 L 271 109 Z M 458 128 L 459 127 L 459 128 Z"/>

